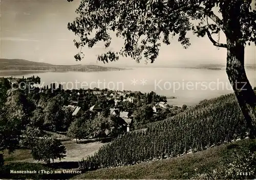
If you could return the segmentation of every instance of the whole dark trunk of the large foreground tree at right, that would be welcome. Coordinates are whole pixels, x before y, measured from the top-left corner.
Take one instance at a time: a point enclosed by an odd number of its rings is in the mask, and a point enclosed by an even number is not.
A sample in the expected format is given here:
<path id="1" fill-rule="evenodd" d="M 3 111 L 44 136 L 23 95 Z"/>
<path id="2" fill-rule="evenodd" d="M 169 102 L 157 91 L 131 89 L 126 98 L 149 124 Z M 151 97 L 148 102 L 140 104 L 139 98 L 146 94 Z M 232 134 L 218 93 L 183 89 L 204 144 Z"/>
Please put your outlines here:
<path id="1" fill-rule="evenodd" d="M 226 72 L 249 128 L 249 137 L 255 138 L 256 95 L 247 79 L 244 69 L 245 42 L 243 42 L 244 37 L 241 24 L 241 18 L 243 16 L 242 5 L 244 5 L 243 0 L 231 0 L 225 1 L 222 7 L 223 25 L 227 37 Z"/>

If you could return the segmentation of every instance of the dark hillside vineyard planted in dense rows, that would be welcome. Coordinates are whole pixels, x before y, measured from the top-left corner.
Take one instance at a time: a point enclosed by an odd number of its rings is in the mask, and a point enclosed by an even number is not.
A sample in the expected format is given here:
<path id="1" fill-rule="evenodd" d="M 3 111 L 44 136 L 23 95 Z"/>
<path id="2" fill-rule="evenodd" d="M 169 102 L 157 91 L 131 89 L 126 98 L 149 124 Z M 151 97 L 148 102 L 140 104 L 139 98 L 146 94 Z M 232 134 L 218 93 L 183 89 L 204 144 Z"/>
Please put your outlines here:
<path id="1" fill-rule="evenodd" d="M 84 169 L 134 165 L 177 157 L 245 138 L 248 128 L 234 94 L 204 100 L 183 113 L 126 133 L 81 163 Z"/>

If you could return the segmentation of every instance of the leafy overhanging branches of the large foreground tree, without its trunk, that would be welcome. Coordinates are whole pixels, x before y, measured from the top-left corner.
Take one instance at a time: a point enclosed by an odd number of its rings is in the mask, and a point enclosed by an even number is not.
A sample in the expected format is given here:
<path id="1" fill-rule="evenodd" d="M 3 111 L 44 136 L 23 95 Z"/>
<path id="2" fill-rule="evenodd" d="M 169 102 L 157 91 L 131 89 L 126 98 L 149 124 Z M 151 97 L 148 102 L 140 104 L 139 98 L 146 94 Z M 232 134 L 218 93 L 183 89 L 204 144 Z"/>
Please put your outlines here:
<path id="1" fill-rule="evenodd" d="M 144 58 L 153 63 L 159 53 L 160 40 L 170 44 L 170 37 L 179 35 L 178 41 L 187 48 L 190 43 L 186 33 L 190 30 L 198 36 L 207 34 L 214 45 L 225 47 L 215 42 L 211 33 L 222 30 L 227 37 L 232 37 L 233 31 L 239 28 L 243 34 L 242 43 L 256 43 L 256 11 L 251 10 L 250 3 L 250 0 L 82 0 L 76 10 L 78 17 L 68 23 L 68 29 L 80 37 L 80 41 L 74 40 L 77 48 L 93 47 L 99 41 L 103 41 L 107 48 L 111 45 L 111 31 L 125 39 L 119 52 L 110 50 L 98 56 L 100 61 L 116 61 L 121 55 L 132 57 L 137 62 Z M 219 10 L 223 19 L 213 13 L 214 9 Z M 209 24 L 205 17 L 215 23 Z M 240 27 L 235 27 L 232 22 L 236 18 L 240 19 Z M 199 21 L 197 28 L 191 19 Z M 75 59 L 79 61 L 83 56 L 80 51 Z"/>

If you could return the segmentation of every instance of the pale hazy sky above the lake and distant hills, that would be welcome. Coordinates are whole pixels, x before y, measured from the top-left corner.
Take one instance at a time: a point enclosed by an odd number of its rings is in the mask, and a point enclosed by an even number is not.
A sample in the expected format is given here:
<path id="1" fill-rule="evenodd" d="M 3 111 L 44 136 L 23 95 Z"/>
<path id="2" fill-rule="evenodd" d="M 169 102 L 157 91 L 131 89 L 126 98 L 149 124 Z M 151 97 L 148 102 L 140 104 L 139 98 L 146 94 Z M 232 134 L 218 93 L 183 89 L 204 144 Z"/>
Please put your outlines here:
<path id="1" fill-rule="evenodd" d="M 67 29 L 72 22 L 80 1 L 67 0 L 0 0 L 1 9 L 1 46 L 0 57 L 7 59 L 25 59 L 51 64 L 98 64 L 97 55 L 107 50 L 103 43 L 93 48 L 83 48 L 86 55 L 76 62 L 74 55 L 79 50 L 74 46 L 75 35 Z M 114 34 L 113 34 L 114 35 Z M 215 64 L 226 61 L 226 49 L 212 45 L 207 37 L 198 38 L 188 33 L 191 46 L 184 49 L 175 38 L 170 45 L 160 47 L 159 57 L 147 66 L 179 66 L 197 64 Z M 218 39 L 214 36 L 215 39 Z M 111 48 L 120 49 L 123 39 L 112 37 Z M 226 40 L 223 35 L 221 43 Z M 256 64 L 256 47 L 245 49 L 245 63 Z M 131 58 L 120 58 L 108 66 L 137 66 Z M 142 61 L 139 66 L 145 66 Z"/>

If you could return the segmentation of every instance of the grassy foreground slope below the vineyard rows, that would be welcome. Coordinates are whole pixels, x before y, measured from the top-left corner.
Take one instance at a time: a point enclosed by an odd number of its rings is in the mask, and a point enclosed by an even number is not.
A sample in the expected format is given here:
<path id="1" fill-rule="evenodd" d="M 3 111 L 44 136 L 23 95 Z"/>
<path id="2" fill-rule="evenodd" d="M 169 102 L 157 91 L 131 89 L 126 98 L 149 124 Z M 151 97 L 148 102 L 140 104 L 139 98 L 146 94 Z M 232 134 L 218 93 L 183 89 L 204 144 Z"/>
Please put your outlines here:
<path id="1" fill-rule="evenodd" d="M 196 153 L 190 153 L 178 158 L 141 163 L 133 166 L 105 168 L 74 176 L 74 179 L 198 179 L 196 174 L 213 175 L 213 170 L 225 172 L 225 160 L 232 160 L 233 152 L 243 148 L 245 152 L 256 145 L 256 140 L 244 139 L 232 143 L 209 148 Z M 238 163 L 241 163 L 238 161 Z M 255 171 L 256 166 L 254 167 Z M 226 172 L 227 173 L 227 172 Z M 237 173 L 237 172 L 236 172 Z M 235 177 L 245 179 L 244 173 L 234 174 Z M 225 173 L 217 179 L 224 179 Z M 229 176 L 232 178 L 233 176 Z M 252 174 L 247 178 L 253 178 Z M 203 179 L 206 179 L 205 177 Z"/>

